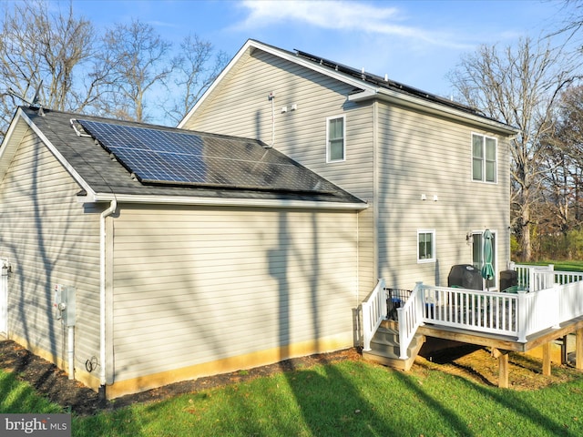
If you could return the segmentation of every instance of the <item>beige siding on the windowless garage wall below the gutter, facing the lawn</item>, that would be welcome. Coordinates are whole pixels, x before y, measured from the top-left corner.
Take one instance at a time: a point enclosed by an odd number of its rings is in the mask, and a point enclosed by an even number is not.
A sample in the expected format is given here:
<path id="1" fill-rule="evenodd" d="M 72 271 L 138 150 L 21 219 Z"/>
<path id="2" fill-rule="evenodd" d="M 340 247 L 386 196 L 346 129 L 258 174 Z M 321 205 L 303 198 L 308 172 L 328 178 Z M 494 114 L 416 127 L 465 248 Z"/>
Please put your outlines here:
<path id="1" fill-rule="evenodd" d="M 114 227 L 117 381 L 306 340 L 353 346 L 354 212 L 122 206 Z"/>

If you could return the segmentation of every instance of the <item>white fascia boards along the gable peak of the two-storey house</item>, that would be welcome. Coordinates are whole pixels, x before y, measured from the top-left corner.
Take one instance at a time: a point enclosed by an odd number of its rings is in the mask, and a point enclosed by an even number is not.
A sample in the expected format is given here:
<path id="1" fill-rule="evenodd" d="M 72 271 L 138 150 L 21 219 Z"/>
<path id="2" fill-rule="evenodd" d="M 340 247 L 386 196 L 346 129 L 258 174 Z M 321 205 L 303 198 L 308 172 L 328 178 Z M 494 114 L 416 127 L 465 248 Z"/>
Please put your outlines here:
<path id="1" fill-rule="evenodd" d="M 306 68 L 309 68 L 313 71 L 321 73 L 322 75 L 330 76 L 330 77 L 335 78 L 337 80 L 340 80 L 346 84 L 349 84 L 351 86 L 355 86 L 358 88 L 363 88 L 363 89 L 370 91 L 370 92 L 374 92 L 377 88 L 376 86 L 372 86 L 371 84 L 368 84 L 363 80 L 359 80 L 359 79 L 353 78 L 351 76 L 344 75 L 343 73 L 340 73 L 340 72 L 332 71 L 330 68 L 328 68 L 326 66 L 319 66 L 318 64 L 314 64 L 312 61 L 302 59 L 299 56 L 296 56 L 292 53 L 281 50 L 277 47 L 267 46 L 265 44 L 260 43 L 259 41 L 249 39 L 245 43 L 245 45 L 240 48 L 239 52 L 237 52 L 237 54 L 230 60 L 230 63 L 223 69 L 223 71 L 220 72 L 220 75 L 217 76 L 217 78 L 213 81 L 212 85 L 209 86 L 209 89 L 207 89 L 207 91 L 199 98 L 199 100 L 194 105 L 194 107 L 192 107 L 192 109 L 190 109 L 190 111 L 186 115 L 186 117 L 182 118 L 182 120 L 180 121 L 180 123 L 178 125 L 179 128 L 184 127 L 184 125 L 187 123 L 189 118 L 192 117 L 192 115 L 197 111 L 197 109 L 204 104 L 205 100 L 208 97 L 210 97 L 210 95 L 212 95 L 213 91 L 215 90 L 215 88 L 217 88 L 219 86 L 222 79 L 225 76 L 229 75 L 230 71 L 237 65 L 239 60 L 245 54 L 247 54 L 247 53 L 251 54 L 253 49 L 260 49 L 261 51 L 269 53 L 273 56 L 279 56 L 282 59 L 288 60 L 288 61 L 295 63 L 295 64 L 298 64 L 300 66 L 305 66 Z"/>

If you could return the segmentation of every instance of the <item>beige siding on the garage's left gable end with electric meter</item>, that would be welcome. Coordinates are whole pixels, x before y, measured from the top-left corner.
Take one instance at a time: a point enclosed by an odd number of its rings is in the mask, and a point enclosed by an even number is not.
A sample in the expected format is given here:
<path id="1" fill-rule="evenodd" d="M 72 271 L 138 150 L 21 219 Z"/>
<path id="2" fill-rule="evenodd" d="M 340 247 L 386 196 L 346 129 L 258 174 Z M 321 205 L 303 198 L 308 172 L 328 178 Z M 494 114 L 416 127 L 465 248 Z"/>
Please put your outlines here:
<path id="1" fill-rule="evenodd" d="M 0 185 L 0 256 L 9 259 L 9 336 L 66 360 L 53 309 L 56 284 L 77 289 L 76 367 L 98 356 L 98 214 L 76 201 L 80 188 L 28 133 Z M 65 339 L 65 341 L 64 341 Z M 46 355 L 46 354 L 45 354 Z"/>

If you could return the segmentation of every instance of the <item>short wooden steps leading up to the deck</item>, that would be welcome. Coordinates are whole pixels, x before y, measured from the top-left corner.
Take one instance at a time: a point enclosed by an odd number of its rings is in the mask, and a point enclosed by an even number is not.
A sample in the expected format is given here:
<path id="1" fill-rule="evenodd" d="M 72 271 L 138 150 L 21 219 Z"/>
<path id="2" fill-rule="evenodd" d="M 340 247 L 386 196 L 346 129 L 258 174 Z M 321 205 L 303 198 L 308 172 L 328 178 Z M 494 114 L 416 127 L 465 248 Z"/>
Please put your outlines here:
<path id="1" fill-rule="evenodd" d="M 394 320 L 384 320 L 371 340 L 371 351 L 363 351 L 363 358 L 394 369 L 408 371 L 413 366 L 424 340 L 423 335 L 415 335 L 407 348 L 409 358 L 402 360 L 399 358 L 399 325 Z"/>

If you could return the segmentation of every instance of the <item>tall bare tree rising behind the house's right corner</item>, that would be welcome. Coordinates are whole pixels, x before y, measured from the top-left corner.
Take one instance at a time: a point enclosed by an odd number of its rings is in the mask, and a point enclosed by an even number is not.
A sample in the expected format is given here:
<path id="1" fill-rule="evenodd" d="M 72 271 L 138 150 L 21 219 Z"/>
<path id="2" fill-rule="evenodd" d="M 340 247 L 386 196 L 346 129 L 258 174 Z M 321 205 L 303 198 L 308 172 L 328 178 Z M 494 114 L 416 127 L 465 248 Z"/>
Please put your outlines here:
<path id="1" fill-rule="evenodd" d="M 524 259 L 531 259 L 532 207 L 540 200 L 547 147 L 542 138 L 553 127 L 553 111 L 561 92 L 577 80 L 577 61 L 549 39 L 517 46 L 481 46 L 465 56 L 450 81 L 465 103 L 517 127 L 511 144 L 513 226 Z"/>

